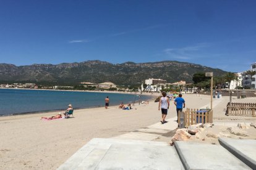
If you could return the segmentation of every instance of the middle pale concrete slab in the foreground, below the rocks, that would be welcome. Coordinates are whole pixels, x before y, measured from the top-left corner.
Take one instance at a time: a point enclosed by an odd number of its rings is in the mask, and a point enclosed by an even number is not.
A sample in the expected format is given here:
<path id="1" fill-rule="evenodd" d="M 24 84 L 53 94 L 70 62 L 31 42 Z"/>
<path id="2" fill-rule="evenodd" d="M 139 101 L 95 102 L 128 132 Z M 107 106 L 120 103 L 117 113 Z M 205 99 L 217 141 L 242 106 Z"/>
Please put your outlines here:
<path id="1" fill-rule="evenodd" d="M 250 169 L 220 145 L 174 142 L 185 169 Z"/>

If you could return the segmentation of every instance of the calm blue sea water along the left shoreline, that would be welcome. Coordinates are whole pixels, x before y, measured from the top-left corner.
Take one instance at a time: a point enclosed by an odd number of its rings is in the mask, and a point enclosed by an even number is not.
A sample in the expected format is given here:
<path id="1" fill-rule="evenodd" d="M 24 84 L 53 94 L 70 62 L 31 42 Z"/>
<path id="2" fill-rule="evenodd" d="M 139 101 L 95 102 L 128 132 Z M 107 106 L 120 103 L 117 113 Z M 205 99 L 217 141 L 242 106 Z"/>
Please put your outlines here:
<path id="1" fill-rule="evenodd" d="M 135 94 L 116 94 L 103 92 L 75 91 L 44 91 L 24 89 L 0 89 L 0 104 L 2 115 L 14 115 L 49 110 L 64 110 L 71 103 L 74 108 L 103 107 L 105 98 L 109 97 L 109 106 L 119 103 L 139 100 Z M 150 96 L 142 95 L 141 100 Z"/>

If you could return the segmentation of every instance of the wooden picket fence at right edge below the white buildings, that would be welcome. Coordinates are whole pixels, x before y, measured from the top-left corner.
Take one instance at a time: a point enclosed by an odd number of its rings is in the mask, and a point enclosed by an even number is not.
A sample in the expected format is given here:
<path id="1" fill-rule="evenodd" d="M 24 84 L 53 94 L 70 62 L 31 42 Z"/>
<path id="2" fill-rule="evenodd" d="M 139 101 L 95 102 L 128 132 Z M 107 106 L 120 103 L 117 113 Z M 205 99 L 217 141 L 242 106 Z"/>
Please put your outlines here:
<path id="1" fill-rule="evenodd" d="M 231 103 L 227 105 L 228 116 L 255 116 L 256 103 Z"/>

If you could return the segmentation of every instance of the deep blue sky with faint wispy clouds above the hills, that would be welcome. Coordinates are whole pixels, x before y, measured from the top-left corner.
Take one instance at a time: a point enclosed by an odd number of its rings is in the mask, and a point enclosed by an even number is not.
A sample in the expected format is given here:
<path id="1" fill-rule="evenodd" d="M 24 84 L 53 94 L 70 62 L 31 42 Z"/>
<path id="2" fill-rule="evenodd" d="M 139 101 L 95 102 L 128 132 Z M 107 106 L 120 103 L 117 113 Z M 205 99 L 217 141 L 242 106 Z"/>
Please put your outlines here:
<path id="1" fill-rule="evenodd" d="M 0 63 L 256 62 L 256 1 L 3 1 Z"/>

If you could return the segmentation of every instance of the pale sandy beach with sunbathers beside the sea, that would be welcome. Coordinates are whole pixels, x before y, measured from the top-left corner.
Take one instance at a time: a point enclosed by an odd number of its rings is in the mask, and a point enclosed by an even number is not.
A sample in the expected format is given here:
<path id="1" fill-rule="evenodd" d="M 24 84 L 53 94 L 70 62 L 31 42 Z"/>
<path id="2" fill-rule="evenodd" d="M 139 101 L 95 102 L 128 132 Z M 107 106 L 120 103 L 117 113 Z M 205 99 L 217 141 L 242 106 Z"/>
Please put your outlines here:
<path id="1" fill-rule="evenodd" d="M 186 108 L 210 107 L 210 96 L 184 94 Z M 218 100 L 218 99 L 215 99 Z M 213 101 L 214 117 L 224 117 L 229 97 Z M 255 100 L 255 99 L 248 99 Z M 59 111 L 0 117 L 0 169 L 56 169 L 95 137 L 109 138 L 160 123 L 158 103 L 74 110 L 74 118 L 41 120 Z M 64 111 L 62 111 L 64 113 Z M 176 116 L 173 100 L 167 118 Z M 176 123 L 176 122 L 168 122 Z"/>

